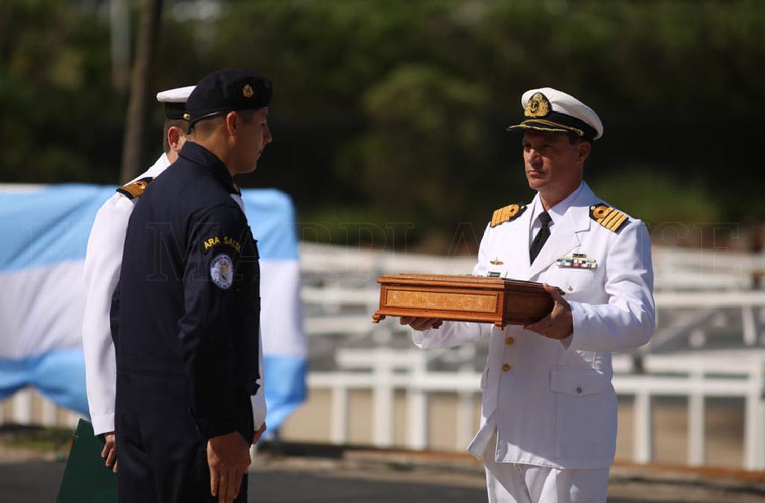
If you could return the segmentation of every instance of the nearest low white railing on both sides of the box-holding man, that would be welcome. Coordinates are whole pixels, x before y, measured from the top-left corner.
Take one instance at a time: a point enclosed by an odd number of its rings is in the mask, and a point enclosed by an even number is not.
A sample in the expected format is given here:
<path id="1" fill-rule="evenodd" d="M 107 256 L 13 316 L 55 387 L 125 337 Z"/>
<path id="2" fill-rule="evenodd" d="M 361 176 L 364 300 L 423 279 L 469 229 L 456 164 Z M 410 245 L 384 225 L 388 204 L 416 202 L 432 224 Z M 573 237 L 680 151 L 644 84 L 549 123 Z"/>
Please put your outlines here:
<path id="1" fill-rule="evenodd" d="M 433 350 L 431 350 L 433 351 Z M 653 458 L 654 428 L 652 398 L 688 398 L 688 464 L 705 464 L 705 398 L 744 398 L 744 459 L 750 470 L 765 469 L 765 351 L 715 355 L 647 355 L 646 374 L 627 374 L 632 359 L 614 358 L 614 389 L 617 395 L 634 397 L 633 461 L 649 463 Z M 474 433 L 474 400 L 480 393 L 480 372 L 428 370 L 428 351 L 338 350 L 335 372 L 313 372 L 311 389 L 331 390 L 331 441 L 347 442 L 348 394 L 353 390 L 373 394 L 373 443 L 392 446 L 392 401 L 397 390 L 406 392 L 408 429 L 406 446 L 428 447 L 428 395 L 456 392 L 457 434 L 454 448 L 464 450 Z M 365 370 L 366 372 L 358 372 Z M 396 372 L 398 371 L 398 372 Z M 403 371 L 403 372 L 401 372 Z M 671 374 L 671 375 L 668 375 Z"/>

